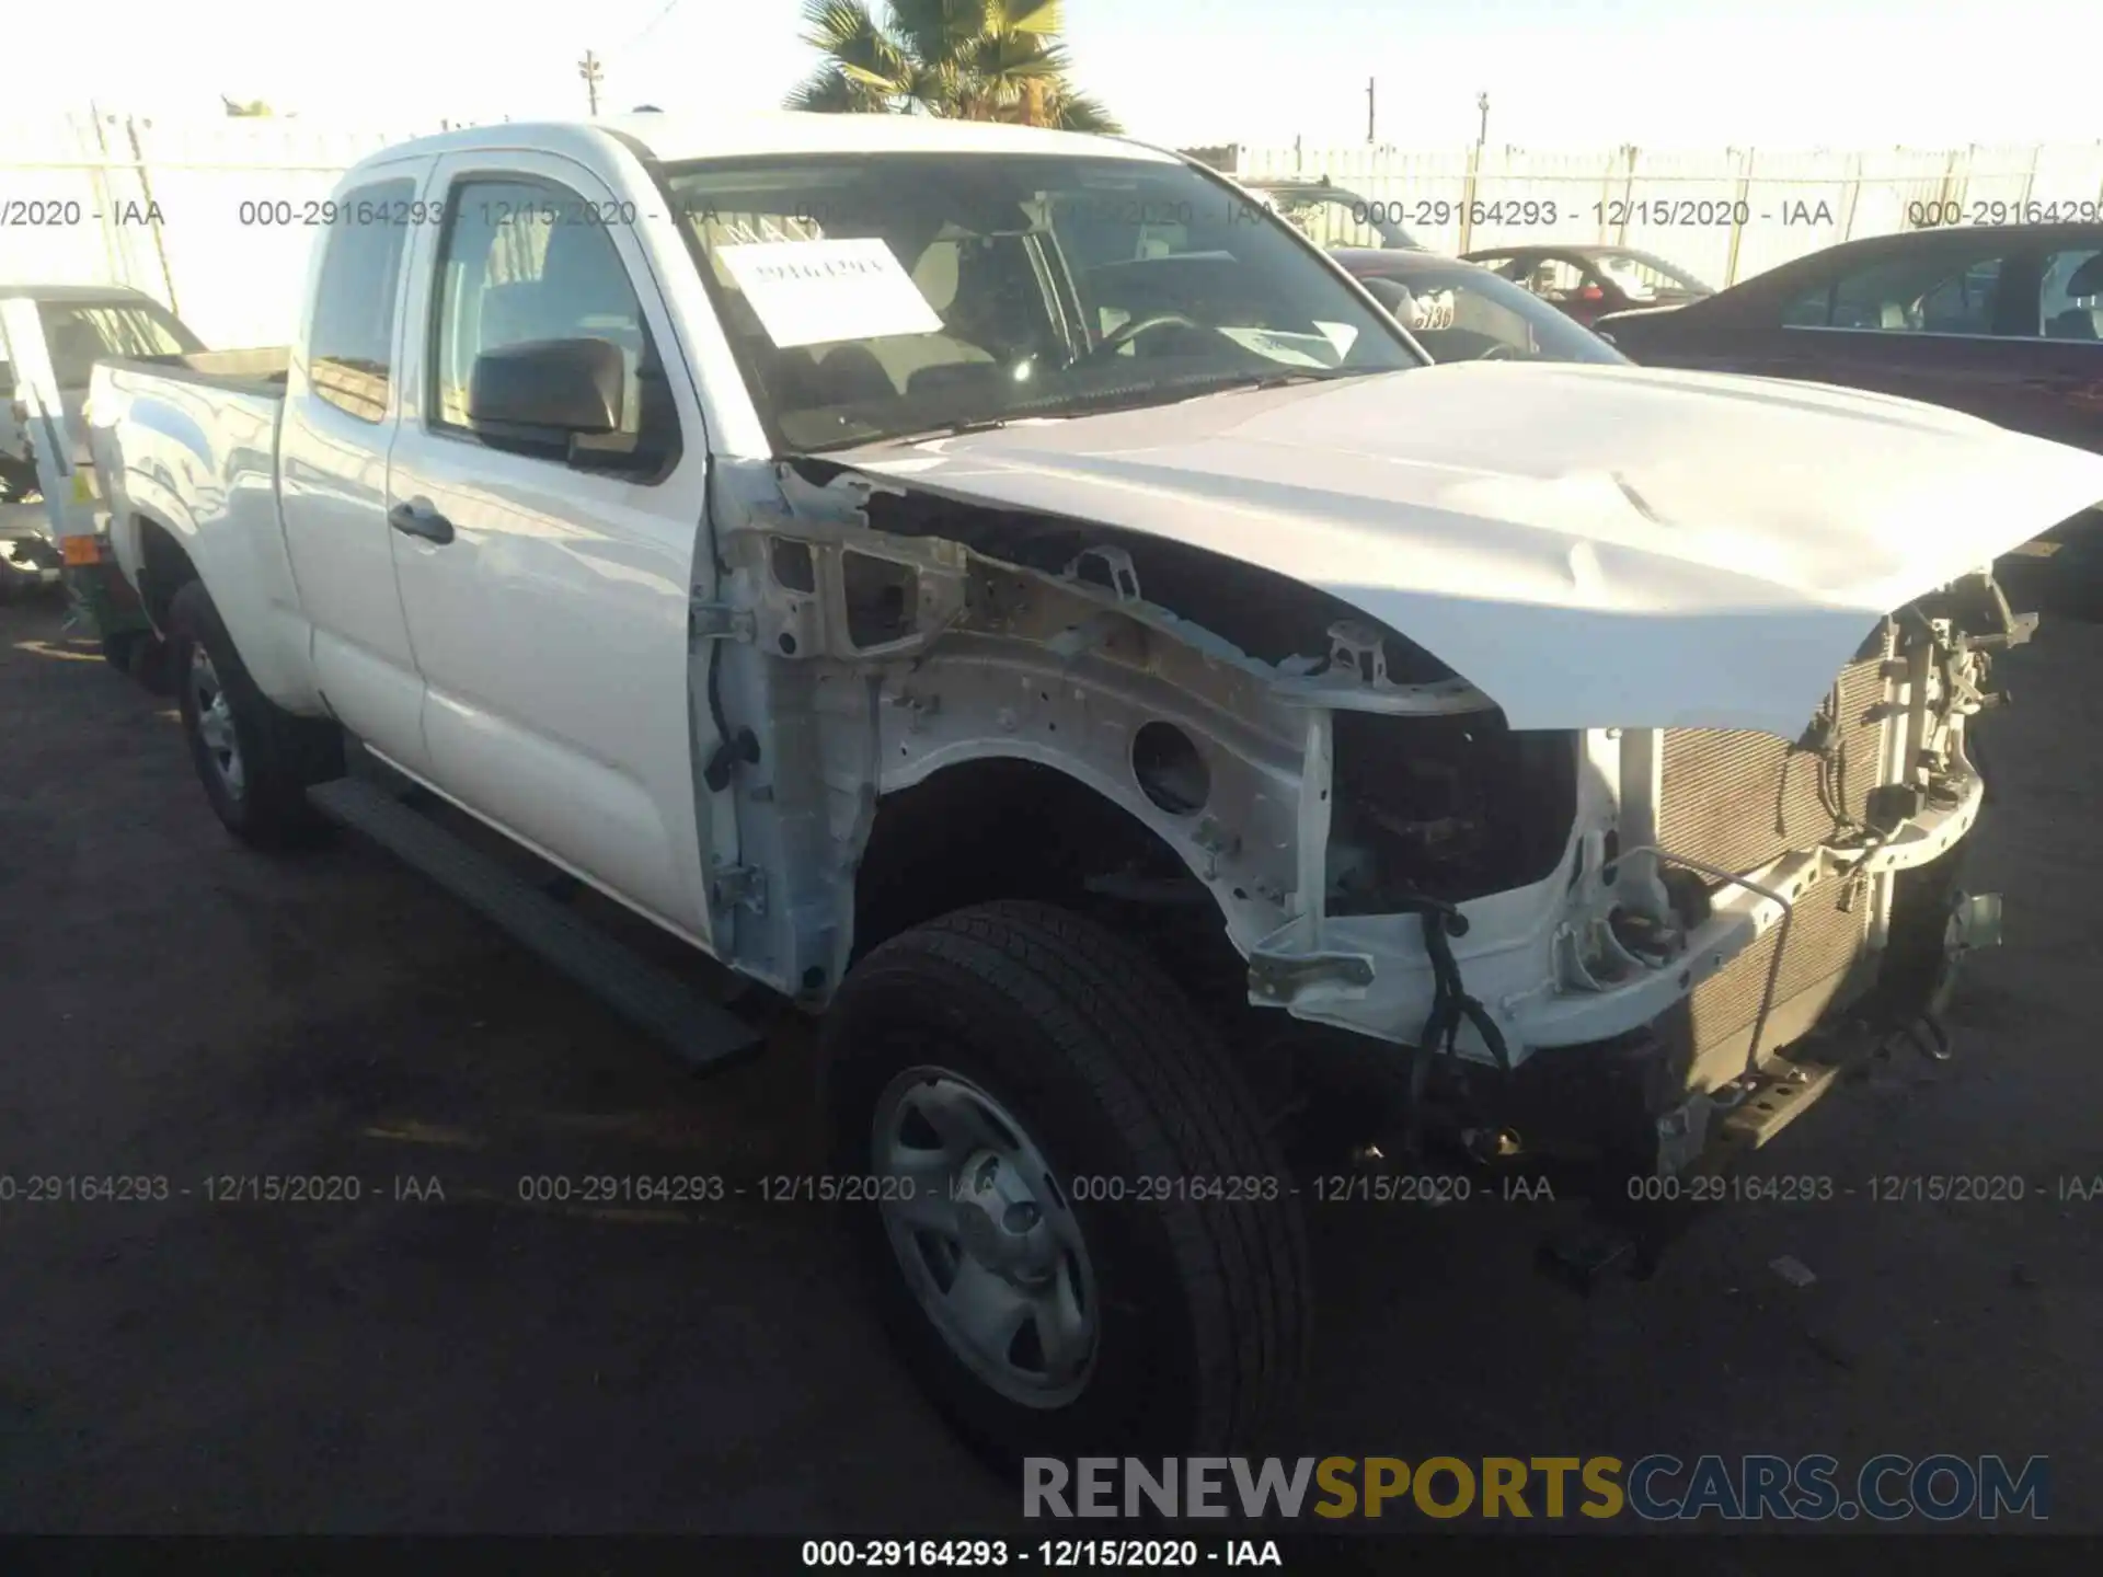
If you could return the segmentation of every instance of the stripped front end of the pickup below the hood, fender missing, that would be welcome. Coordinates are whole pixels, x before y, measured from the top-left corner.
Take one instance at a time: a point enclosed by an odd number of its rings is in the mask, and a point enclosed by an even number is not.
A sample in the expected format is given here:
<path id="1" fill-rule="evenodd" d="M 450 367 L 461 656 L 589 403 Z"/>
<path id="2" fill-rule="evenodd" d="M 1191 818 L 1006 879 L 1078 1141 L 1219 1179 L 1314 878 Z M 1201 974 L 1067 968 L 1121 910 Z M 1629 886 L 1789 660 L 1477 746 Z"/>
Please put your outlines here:
<path id="1" fill-rule="evenodd" d="M 1186 965 L 1281 1117 L 1626 1199 L 1880 1035 L 1939 1049 L 1998 927 L 1954 875 L 1966 723 L 2034 620 L 1983 574 L 1865 620 L 1790 736 L 1512 728 L 1329 591 L 908 469 L 730 465 L 715 521 L 719 936 L 810 1005 L 959 902 L 1091 906 Z"/>

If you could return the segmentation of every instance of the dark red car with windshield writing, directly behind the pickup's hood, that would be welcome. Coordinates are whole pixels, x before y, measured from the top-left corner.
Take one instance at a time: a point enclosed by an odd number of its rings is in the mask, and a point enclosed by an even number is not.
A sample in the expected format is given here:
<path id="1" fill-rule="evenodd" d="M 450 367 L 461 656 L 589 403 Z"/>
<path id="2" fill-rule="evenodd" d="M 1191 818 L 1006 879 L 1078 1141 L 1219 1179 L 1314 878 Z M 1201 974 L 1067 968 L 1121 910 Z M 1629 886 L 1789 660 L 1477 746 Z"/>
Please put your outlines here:
<path id="1" fill-rule="evenodd" d="M 1434 362 L 1628 362 L 1592 330 L 1474 263 L 1356 246 L 1333 257 Z"/>

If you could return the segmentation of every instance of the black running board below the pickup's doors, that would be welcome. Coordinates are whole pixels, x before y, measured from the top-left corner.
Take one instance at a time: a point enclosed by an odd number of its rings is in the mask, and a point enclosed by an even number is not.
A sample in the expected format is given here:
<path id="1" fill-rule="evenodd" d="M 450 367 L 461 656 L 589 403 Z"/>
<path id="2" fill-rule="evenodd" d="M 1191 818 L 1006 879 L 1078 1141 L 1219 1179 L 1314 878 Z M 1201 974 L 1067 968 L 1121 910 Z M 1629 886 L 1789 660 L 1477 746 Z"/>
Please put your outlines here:
<path id="1" fill-rule="evenodd" d="M 677 976 L 578 919 L 532 883 L 364 778 L 307 791 L 315 810 L 364 833 L 658 1041 L 696 1070 L 759 1049 L 761 1035 Z"/>

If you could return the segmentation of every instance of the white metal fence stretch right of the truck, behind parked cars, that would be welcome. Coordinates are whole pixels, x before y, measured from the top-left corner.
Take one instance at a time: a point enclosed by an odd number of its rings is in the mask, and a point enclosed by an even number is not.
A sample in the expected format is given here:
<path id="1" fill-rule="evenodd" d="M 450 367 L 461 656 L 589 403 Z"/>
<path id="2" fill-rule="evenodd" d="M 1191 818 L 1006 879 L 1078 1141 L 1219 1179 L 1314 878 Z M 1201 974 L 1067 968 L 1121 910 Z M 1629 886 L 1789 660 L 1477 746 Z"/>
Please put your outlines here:
<path id="1" fill-rule="evenodd" d="M 1222 147 L 1241 179 L 1327 179 L 1426 246 L 1615 242 L 1727 286 L 1857 235 L 1926 225 L 2103 221 L 2103 141 L 1857 151 Z M 1316 221 L 1321 223 L 1321 221 Z M 1331 208 L 1325 244 L 1371 244 Z"/>

